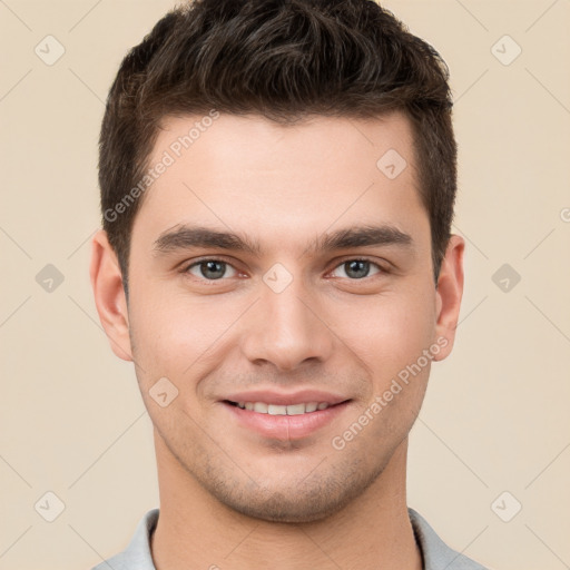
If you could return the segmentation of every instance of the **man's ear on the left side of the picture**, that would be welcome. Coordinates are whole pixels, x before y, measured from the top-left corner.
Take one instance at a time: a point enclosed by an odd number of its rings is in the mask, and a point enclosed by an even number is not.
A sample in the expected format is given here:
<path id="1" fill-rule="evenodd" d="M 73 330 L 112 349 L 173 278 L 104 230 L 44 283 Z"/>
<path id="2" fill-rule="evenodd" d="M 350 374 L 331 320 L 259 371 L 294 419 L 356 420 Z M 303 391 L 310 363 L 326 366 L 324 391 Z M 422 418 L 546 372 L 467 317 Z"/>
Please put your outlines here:
<path id="1" fill-rule="evenodd" d="M 122 274 L 117 255 L 102 229 L 97 232 L 91 242 L 89 273 L 99 320 L 112 352 L 119 358 L 132 361 Z"/>

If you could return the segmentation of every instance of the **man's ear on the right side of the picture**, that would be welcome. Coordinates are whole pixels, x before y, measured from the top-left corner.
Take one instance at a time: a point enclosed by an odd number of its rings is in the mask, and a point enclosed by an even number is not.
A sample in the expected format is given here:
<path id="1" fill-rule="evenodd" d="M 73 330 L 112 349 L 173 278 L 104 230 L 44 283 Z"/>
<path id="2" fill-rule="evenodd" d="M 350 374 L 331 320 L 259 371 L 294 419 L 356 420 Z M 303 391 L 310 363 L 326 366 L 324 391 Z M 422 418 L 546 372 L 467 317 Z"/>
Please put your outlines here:
<path id="1" fill-rule="evenodd" d="M 461 236 L 452 235 L 441 264 L 435 292 L 438 317 L 435 334 L 436 338 L 445 338 L 446 342 L 441 343 L 442 350 L 434 357 L 435 361 L 445 358 L 451 353 L 455 341 L 455 328 L 463 295 L 464 249 L 465 240 Z"/>

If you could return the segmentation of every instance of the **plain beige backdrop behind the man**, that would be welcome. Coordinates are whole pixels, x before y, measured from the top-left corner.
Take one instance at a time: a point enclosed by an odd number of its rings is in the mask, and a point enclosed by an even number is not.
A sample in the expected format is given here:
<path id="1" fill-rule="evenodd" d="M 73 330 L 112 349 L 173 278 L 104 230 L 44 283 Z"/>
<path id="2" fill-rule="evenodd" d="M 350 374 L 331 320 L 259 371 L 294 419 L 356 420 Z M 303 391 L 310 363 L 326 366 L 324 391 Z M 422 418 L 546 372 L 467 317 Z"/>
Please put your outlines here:
<path id="1" fill-rule="evenodd" d="M 158 505 L 151 424 L 99 326 L 88 258 L 102 101 L 171 6 L 0 0 L 0 570 L 91 568 Z M 385 6 L 450 66 L 468 240 L 458 344 L 412 432 L 409 503 L 491 568 L 570 568 L 570 1 Z M 35 53 L 48 35 L 66 50 L 52 66 Z M 503 62 L 522 52 L 503 65 L 494 45 Z M 36 281 L 47 264 L 63 275 L 52 292 Z M 503 264 L 521 276 L 507 292 Z M 53 522 L 48 491 L 65 503 Z"/>

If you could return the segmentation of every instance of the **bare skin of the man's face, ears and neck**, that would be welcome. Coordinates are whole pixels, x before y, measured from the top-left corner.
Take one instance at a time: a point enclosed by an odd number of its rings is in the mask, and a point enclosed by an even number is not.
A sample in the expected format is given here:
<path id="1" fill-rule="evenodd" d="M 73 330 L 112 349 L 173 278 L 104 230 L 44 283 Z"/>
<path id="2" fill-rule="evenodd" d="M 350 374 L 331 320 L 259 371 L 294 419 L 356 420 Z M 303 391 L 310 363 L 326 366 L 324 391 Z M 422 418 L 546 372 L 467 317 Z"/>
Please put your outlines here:
<path id="1" fill-rule="evenodd" d="M 197 119 L 165 120 L 149 164 L 173 155 Z M 389 149 L 407 163 L 394 179 L 376 166 Z M 106 234 L 95 236 L 97 309 L 115 353 L 135 362 L 155 426 L 158 570 L 422 567 L 406 513 L 407 434 L 431 362 L 453 346 L 464 242 L 450 239 L 435 287 L 414 164 L 397 112 L 295 126 L 222 115 L 144 196 L 128 304 Z M 259 252 L 157 250 L 183 224 L 233 232 Z M 311 247 L 340 229 L 382 225 L 410 243 Z M 229 264 L 227 273 L 208 281 L 199 265 L 188 269 L 204 258 Z M 367 276 L 347 272 L 354 258 L 371 262 Z M 264 281 L 275 264 L 292 279 L 279 293 Z M 424 351 L 431 357 L 419 361 Z M 417 362 L 421 371 L 371 412 Z M 178 390 L 165 407 L 149 392 L 161 377 Z M 315 389 L 350 402 L 306 436 L 269 438 L 223 403 L 253 389 Z M 366 411 L 362 430 L 335 448 Z"/>

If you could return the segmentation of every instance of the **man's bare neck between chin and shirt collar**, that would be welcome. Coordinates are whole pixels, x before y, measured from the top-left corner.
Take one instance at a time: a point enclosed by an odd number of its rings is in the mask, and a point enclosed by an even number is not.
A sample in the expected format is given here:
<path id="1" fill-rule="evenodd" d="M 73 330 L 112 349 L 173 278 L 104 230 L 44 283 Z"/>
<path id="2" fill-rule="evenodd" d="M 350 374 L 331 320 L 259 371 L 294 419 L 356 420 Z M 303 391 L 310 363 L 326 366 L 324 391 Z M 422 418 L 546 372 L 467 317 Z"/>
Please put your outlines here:
<path id="1" fill-rule="evenodd" d="M 252 519 L 214 499 L 155 433 L 160 515 L 150 548 L 157 570 L 421 570 L 407 515 L 407 440 L 382 474 L 341 512 L 308 523 Z"/>

